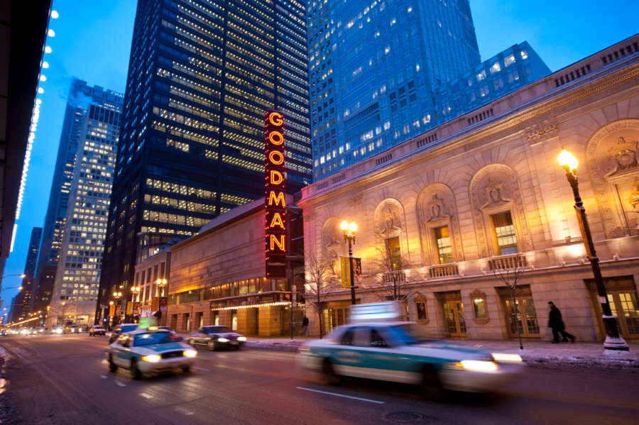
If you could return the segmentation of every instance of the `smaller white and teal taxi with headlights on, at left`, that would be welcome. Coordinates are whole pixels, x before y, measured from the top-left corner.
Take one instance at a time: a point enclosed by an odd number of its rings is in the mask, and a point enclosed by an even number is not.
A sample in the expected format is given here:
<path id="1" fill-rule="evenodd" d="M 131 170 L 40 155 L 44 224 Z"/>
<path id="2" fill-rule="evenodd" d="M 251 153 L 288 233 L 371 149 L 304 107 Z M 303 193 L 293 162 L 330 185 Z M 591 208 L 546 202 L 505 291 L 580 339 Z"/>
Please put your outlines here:
<path id="1" fill-rule="evenodd" d="M 109 370 L 118 368 L 131 370 L 133 379 L 140 379 L 142 373 L 182 369 L 187 372 L 195 364 L 197 351 L 177 341 L 168 331 L 131 331 L 109 345 L 107 361 Z"/>

